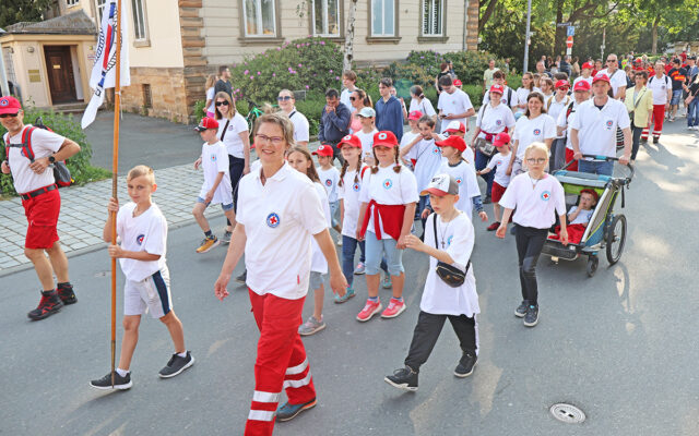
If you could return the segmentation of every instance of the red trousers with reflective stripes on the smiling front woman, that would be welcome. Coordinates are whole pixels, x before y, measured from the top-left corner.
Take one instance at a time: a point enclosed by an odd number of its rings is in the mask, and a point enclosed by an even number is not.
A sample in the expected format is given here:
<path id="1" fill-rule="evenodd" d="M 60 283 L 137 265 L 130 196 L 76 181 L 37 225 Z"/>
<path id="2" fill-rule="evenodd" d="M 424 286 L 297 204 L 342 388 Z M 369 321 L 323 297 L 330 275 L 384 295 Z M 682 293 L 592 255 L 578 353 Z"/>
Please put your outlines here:
<path id="1" fill-rule="evenodd" d="M 316 398 L 304 342 L 298 335 L 304 299 L 286 300 L 268 293 L 258 295 L 249 289 L 254 322 L 260 329 L 258 359 L 254 362 L 254 393 L 245 426 L 246 436 L 268 436 L 282 389 L 292 404 Z"/>

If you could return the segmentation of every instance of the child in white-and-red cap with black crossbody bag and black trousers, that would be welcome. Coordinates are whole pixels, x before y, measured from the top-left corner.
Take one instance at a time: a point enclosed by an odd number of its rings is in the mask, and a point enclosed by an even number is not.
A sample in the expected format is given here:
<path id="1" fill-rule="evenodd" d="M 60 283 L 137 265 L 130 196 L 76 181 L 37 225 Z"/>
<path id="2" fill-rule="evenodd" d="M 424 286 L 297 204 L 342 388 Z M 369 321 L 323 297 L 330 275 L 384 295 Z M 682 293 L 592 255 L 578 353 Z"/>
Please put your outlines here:
<path id="1" fill-rule="evenodd" d="M 429 255 L 429 271 L 405 367 L 384 378 L 389 385 L 411 391 L 417 390 L 419 368 L 429 358 L 447 319 L 459 338 L 462 352 L 454 375 L 467 377 L 473 374 L 478 359 L 476 314 L 481 313 L 481 307 L 470 261 L 473 225 L 466 214 L 454 207 L 459 201 L 459 185 L 453 177 L 435 175 L 424 194 L 429 194 L 435 214 L 427 220 L 425 242 L 411 234 L 406 245 Z M 436 272 L 438 262 L 465 270 L 464 282 L 455 288 L 447 284 Z"/>

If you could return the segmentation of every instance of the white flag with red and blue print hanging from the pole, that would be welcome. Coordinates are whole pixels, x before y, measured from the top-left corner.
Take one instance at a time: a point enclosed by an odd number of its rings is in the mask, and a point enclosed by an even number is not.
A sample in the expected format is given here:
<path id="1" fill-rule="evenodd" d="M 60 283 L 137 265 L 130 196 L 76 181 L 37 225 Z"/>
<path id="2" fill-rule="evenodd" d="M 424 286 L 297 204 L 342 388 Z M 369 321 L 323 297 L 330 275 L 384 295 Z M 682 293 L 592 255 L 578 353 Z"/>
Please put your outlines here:
<path id="1" fill-rule="evenodd" d="M 125 0 L 121 0 L 121 20 L 120 34 L 121 37 L 121 86 L 131 84 L 131 74 L 129 72 L 129 21 L 126 13 Z M 92 68 L 90 76 L 90 87 L 94 89 L 94 94 L 90 99 L 85 113 L 83 113 L 82 128 L 85 129 L 97 116 L 97 109 L 105 100 L 105 89 L 114 88 L 116 85 L 116 66 L 117 66 L 117 38 L 120 37 L 116 32 L 117 25 L 117 0 L 107 0 L 102 15 L 102 25 L 99 26 L 99 37 L 97 39 L 97 48 L 95 49 L 95 64 Z"/>

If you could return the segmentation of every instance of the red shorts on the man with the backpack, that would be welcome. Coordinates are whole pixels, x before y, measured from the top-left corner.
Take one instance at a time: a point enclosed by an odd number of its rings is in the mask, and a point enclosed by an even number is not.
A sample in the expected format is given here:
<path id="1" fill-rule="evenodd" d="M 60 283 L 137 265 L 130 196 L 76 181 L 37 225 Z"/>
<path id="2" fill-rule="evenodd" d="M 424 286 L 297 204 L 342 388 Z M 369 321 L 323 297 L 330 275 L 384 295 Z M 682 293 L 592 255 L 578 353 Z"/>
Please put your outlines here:
<path id="1" fill-rule="evenodd" d="M 58 214 L 61 196 L 58 190 L 46 192 L 34 198 L 23 199 L 24 215 L 28 222 L 24 246 L 27 249 L 50 249 L 58 241 Z"/>

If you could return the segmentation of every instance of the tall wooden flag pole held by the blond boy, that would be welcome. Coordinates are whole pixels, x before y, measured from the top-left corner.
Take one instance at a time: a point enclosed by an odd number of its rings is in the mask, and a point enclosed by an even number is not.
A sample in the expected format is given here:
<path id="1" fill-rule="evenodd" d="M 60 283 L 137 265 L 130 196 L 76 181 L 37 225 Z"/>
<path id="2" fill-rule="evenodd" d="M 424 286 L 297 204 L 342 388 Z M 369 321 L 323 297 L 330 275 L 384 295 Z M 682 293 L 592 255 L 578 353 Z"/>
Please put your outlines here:
<path id="1" fill-rule="evenodd" d="M 117 0 L 116 13 L 117 64 L 114 92 L 114 147 L 111 156 L 111 196 L 117 198 L 119 172 L 119 112 L 121 111 L 121 0 Z M 111 244 L 117 243 L 117 213 L 111 214 Z M 117 356 L 117 259 L 111 258 L 111 388 L 114 389 L 115 361 Z"/>

